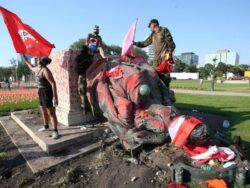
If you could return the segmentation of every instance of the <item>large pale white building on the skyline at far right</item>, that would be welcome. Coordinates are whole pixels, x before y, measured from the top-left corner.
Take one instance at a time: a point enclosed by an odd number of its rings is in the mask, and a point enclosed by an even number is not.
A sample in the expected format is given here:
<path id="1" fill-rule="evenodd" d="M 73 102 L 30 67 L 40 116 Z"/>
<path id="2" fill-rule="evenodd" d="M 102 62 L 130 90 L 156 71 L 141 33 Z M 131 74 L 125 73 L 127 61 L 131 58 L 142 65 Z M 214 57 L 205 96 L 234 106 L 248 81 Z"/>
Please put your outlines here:
<path id="1" fill-rule="evenodd" d="M 217 63 L 222 62 L 230 65 L 239 65 L 240 56 L 237 52 L 230 52 L 229 50 L 217 50 L 214 54 L 205 55 L 205 64 L 211 63 L 216 57 Z"/>

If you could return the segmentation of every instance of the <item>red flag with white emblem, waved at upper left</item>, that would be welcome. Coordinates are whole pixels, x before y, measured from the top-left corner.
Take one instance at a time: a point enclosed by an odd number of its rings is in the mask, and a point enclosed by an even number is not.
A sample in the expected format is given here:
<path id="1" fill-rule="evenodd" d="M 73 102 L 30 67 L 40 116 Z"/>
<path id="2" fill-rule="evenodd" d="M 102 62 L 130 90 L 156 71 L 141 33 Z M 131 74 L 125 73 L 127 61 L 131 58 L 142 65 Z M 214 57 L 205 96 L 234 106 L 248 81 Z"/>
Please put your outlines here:
<path id="1" fill-rule="evenodd" d="M 14 13 L 0 7 L 0 13 L 8 28 L 17 53 L 30 54 L 32 56 L 49 56 L 54 44 L 44 39 L 39 33 L 26 25 Z"/>

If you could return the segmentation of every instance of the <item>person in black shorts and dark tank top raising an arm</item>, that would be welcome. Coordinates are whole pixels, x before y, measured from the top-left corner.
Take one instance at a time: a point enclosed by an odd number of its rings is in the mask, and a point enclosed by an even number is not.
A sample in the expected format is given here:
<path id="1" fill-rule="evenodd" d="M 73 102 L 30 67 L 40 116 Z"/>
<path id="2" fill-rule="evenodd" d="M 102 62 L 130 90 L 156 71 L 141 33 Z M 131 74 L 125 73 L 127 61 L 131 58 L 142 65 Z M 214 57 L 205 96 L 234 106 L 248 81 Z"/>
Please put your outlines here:
<path id="1" fill-rule="evenodd" d="M 58 105 L 56 82 L 51 71 L 47 68 L 47 65 L 51 63 L 51 59 L 48 57 L 40 57 L 37 66 L 33 66 L 25 55 L 24 59 L 29 69 L 36 74 L 40 109 L 44 121 L 44 127 L 39 129 L 39 131 L 48 130 L 49 120 L 51 120 L 54 128 L 52 138 L 58 139 L 59 134 L 57 130 L 57 117 L 55 112 L 55 106 Z"/>

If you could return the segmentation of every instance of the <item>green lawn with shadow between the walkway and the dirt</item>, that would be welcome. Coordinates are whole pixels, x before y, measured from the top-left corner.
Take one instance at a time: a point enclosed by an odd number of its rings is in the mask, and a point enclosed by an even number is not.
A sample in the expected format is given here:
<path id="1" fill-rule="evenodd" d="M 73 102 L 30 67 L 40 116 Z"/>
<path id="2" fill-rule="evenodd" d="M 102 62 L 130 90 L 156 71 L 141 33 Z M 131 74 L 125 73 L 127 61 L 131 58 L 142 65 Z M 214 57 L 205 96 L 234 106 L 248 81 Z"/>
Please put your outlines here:
<path id="1" fill-rule="evenodd" d="M 229 138 L 241 136 L 250 148 L 250 97 L 177 93 L 176 101 L 177 108 L 197 109 L 227 118 L 231 127 L 227 129 L 226 135 Z"/>

